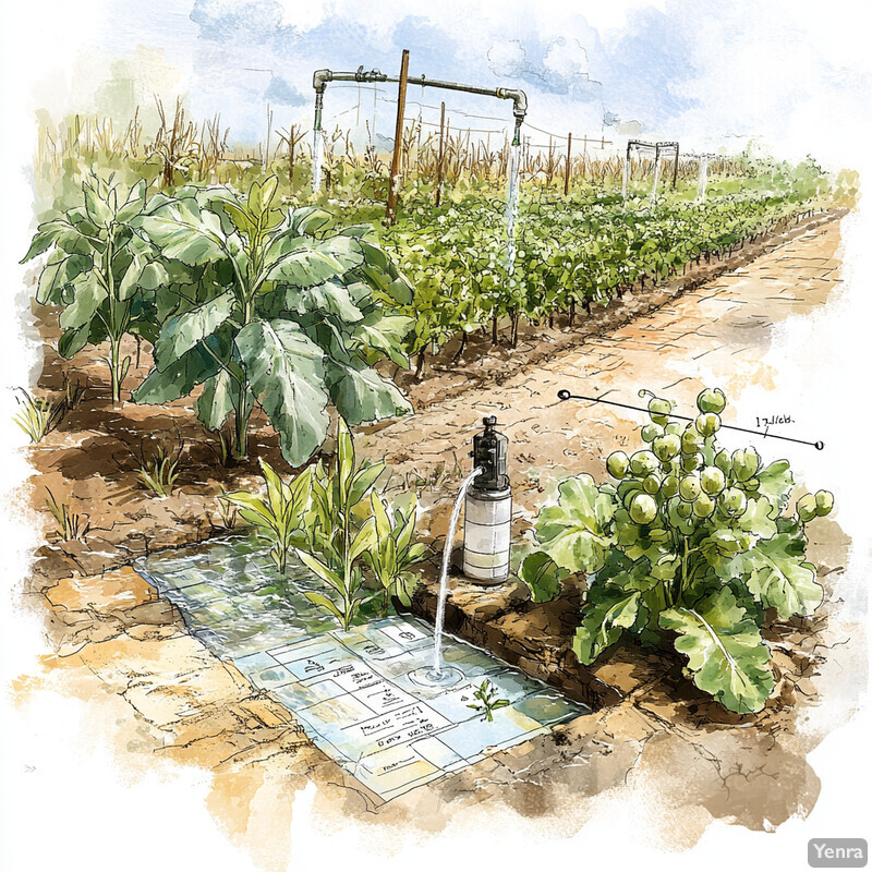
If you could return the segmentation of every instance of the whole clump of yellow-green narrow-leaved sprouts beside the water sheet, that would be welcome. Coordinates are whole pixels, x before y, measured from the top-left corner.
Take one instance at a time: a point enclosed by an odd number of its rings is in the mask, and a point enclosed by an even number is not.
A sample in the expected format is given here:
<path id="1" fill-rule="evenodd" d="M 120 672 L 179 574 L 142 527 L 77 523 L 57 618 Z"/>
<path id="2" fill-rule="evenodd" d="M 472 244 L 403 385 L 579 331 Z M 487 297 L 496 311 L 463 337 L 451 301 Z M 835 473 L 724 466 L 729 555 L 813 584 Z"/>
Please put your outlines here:
<path id="1" fill-rule="evenodd" d="M 221 499 L 237 507 L 270 544 L 279 572 L 295 555 L 325 585 L 325 593 L 306 591 L 315 606 L 348 630 L 371 596 L 367 577 L 382 597 L 387 615 L 390 598 L 411 604 L 417 582 L 412 567 L 429 554 L 414 537 L 416 501 L 413 492 L 388 501 L 377 489 L 384 463 L 358 460 L 348 425 L 340 417 L 336 452 L 290 481 L 264 460 L 265 496 L 246 491 Z"/>

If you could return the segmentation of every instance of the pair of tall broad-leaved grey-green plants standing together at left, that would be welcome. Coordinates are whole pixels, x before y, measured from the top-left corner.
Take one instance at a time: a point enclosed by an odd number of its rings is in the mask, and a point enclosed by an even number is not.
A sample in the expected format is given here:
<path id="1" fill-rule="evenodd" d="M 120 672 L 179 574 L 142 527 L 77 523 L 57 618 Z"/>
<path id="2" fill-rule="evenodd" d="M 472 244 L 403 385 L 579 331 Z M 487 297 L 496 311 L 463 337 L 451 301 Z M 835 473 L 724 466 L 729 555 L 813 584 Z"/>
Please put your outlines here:
<path id="1" fill-rule="evenodd" d="M 258 405 L 299 467 L 326 437 L 328 404 L 351 424 L 410 410 L 374 364 L 407 365 L 412 320 L 395 310 L 413 294 L 368 227 L 282 208 L 277 185 L 149 197 L 145 182 L 95 175 L 81 206 L 39 226 L 25 261 L 50 252 L 37 300 L 62 307 L 64 358 L 108 342 L 113 401 L 131 364 L 122 340 L 145 339 L 154 367 L 135 402 L 202 387 L 197 415 L 210 431 L 232 426 L 234 459 Z"/>

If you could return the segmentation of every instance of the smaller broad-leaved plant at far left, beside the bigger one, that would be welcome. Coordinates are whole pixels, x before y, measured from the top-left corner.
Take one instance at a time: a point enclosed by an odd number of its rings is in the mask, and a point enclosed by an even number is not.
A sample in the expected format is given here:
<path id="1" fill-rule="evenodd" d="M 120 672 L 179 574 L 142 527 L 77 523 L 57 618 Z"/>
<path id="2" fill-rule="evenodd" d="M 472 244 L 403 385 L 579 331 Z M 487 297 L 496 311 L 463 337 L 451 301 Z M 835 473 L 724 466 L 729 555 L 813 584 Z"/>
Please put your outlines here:
<path id="1" fill-rule="evenodd" d="M 145 181 L 128 187 L 113 175 L 92 174 L 82 184 L 83 205 L 39 225 L 23 261 L 51 250 L 37 302 L 63 307 L 61 356 L 108 340 L 113 402 L 131 364 L 121 358 L 121 340 L 126 334 L 154 340 L 155 290 L 167 278 L 154 246 L 135 232 L 146 189 Z"/>

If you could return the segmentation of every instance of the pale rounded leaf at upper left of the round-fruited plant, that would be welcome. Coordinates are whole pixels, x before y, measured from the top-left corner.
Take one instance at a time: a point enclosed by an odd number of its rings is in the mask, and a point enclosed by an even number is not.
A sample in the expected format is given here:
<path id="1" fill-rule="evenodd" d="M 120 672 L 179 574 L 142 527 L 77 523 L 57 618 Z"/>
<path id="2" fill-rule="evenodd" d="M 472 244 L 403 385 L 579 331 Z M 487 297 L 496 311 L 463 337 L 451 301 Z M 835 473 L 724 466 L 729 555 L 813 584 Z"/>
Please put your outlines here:
<path id="1" fill-rule="evenodd" d="M 543 509 L 538 517 L 536 538 L 568 572 L 595 572 L 613 542 L 614 497 L 601 493 L 586 474 L 561 482 L 558 494 L 557 505 Z"/>

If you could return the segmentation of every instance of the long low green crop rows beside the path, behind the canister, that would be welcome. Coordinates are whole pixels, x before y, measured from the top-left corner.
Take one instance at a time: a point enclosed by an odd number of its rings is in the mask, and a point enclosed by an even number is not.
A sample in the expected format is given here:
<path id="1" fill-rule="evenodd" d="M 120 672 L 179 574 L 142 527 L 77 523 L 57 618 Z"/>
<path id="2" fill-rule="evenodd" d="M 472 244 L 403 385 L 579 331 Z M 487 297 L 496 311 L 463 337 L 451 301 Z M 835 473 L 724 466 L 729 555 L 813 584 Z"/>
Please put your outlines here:
<path id="1" fill-rule="evenodd" d="M 419 206 L 382 239 L 416 290 L 408 348 L 417 353 L 488 325 L 496 342 L 500 323 L 512 344 L 522 320 L 565 315 L 571 326 L 577 310 L 656 286 L 813 207 L 798 194 L 667 198 L 655 207 L 620 196 L 526 199 L 511 265 L 499 196 Z"/>

